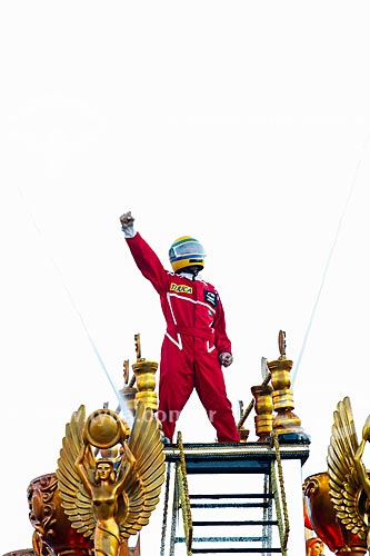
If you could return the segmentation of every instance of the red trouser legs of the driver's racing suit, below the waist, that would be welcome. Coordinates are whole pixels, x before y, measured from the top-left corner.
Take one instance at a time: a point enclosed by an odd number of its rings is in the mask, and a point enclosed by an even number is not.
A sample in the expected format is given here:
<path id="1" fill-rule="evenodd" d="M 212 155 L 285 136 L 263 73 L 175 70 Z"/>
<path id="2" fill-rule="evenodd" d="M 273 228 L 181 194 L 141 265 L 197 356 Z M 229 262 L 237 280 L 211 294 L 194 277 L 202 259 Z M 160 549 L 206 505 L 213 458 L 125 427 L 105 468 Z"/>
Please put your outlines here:
<path id="1" fill-rule="evenodd" d="M 182 349 L 164 337 L 161 350 L 158 418 L 171 441 L 181 410 L 196 388 L 220 443 L 240 443 L 222 368 L 208 341 L 181 335 Z"/>

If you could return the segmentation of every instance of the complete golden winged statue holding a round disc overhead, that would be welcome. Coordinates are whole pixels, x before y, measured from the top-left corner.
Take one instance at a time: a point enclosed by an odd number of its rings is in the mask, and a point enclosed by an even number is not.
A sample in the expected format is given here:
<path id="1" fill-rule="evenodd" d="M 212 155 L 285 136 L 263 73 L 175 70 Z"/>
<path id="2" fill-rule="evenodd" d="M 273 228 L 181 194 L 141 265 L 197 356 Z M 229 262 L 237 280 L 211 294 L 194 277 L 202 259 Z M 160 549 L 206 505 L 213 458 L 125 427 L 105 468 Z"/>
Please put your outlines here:
<path id="1" fill-rule="evenodd" d="M 118 458 L 96 458 L 118 447 Z M 164 480 L 164 453 L 152 409 L 138 403 L 131 430 L 118 414 L 80 406 L 66 426 L 58 459 L 61 506 L 72 528 L 93 538 L 98 556 L 117 556 L 156 508 Z"/>

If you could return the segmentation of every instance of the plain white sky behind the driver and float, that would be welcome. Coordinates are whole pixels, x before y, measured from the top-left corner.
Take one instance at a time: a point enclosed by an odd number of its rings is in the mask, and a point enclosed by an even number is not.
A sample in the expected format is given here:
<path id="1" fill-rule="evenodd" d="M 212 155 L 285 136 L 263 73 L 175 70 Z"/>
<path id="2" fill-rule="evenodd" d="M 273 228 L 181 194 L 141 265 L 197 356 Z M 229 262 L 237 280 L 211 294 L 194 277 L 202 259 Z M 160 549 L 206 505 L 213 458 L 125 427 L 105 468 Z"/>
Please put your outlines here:
<path id="1" fill-rule="evenodd" d="M 117 406 L 80 317 L 118 388 L 134 334 L 159 361 L 159 299 L 119 225 L 129 209 L 166 266 L 174 238 L 203 242 L 237 419 L 280 329 L 298 361 L 330 260 L 293 385 L 312 440 L 303 478 L 326 470 L 346 395 L 361 435 L 368 16 L 356 1 L 1 2 L 1 554 L 31 546 L 27 487 L 56 469 L 72 411 Z M 246 426 L 256 439 L 252 415 Z M 214 439 L 196 397 L 179 429 Z"/>

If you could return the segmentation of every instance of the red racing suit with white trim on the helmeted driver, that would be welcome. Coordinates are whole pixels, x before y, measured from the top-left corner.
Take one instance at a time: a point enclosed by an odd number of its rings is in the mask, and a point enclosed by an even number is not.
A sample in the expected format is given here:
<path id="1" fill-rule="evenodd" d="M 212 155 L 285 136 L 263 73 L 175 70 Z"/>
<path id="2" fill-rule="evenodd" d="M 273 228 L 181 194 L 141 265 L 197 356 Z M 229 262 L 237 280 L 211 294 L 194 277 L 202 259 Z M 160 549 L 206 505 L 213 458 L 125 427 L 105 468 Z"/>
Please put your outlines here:
<path id="1" fill-rule="evenodd" d="M 218 441 L 239 443 L 219 360 L 220 354 L 231 354 L 219 294 L 201 279 L 166 270 L 139 232 L 126 241 L 138 268 L 159 294 L 167 322 L 158 407 L 164 436 L 172 441 L 176 421 L 196 388 Z"/>

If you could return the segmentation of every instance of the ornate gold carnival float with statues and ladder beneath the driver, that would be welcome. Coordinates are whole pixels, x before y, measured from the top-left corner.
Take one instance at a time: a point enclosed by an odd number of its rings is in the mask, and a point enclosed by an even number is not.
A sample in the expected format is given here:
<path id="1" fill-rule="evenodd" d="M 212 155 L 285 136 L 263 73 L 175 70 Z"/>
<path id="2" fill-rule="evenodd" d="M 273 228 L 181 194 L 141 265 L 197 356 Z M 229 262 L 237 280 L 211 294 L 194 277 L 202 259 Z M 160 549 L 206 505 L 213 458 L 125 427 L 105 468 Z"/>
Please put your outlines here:
<path id="1" fill-rule="evenodd" d="M 32 547 L 7 556 L 368 553 L 370 479 L 361 458 L 370 417 L 359 443 L 350 400 L 339 401 L 328 470 L 303 480 L 310 437 L 293 413 L 284 332 L 232 444 L 184 444 L 180 431 L 164 444 L 158 364 L 141 357 L 139 335 L 136 349 L 130 380 L 124 361 L 121 407 L 86 416 L 81 405 L 66 425 L 58 468 L 31 479 Z M 257 441 L 244 428 L 252 410 Z"/>

